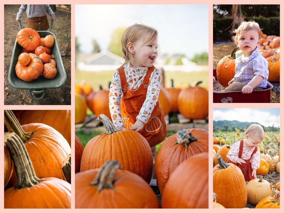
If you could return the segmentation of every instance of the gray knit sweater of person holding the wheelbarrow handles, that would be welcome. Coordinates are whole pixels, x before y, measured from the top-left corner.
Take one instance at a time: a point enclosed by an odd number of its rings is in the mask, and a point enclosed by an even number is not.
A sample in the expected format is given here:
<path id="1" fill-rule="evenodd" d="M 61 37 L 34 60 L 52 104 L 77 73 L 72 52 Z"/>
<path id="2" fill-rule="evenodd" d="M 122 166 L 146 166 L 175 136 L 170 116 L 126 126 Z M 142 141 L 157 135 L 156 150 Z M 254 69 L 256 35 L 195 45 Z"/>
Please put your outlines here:
<path id="1" fill-rule="evenodd" d="M 21 5 L 17 13 L 17 18 L 23 17 L 25 11 L 28 18 L 42 17 L 46 14 L 49 14 L 51 18 L 55 16 L 49 5 Z"/>

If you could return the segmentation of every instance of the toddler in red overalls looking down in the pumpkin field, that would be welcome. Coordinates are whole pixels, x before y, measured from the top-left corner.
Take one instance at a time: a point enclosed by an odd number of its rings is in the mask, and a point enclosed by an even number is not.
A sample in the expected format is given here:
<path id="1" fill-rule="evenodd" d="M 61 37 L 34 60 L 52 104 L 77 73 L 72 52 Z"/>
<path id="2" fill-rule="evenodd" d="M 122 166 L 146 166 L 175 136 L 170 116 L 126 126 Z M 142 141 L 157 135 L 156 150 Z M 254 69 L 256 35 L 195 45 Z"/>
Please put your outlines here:
<path id="1" fill-rule="evenodd" d="M 245 181 L 257 178 L 256 170 L 260 166 L 258 144 L 263 138 L 264 131 L 261 125 L 252 124 L 245 131 L 245 139 L 234 143 L 227 154 L 228 163 L 233 163 L 242 170 Z"/>

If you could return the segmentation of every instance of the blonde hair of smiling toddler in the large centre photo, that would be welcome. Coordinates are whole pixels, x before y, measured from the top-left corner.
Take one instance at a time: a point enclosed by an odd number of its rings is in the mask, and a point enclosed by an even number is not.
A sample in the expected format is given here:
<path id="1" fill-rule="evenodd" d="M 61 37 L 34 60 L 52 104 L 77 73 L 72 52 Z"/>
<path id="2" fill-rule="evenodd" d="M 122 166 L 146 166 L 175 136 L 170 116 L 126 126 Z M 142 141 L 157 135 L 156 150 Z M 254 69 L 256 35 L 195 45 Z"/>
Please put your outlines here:
<path id="1" fill-rule="evenodd" d="M 130 62 L 130 52 L 128 51 L 128 43 L 134 43 L 138 39 L 143 39 L 144 43 L 156 40 L 158 37 L 158 32 L 152 27 L 143 24 L 134 24 L 128 27 L 122 34 L 121 44 L 122 44 L 122 54 L 125 60 L 124 64 Z"/>

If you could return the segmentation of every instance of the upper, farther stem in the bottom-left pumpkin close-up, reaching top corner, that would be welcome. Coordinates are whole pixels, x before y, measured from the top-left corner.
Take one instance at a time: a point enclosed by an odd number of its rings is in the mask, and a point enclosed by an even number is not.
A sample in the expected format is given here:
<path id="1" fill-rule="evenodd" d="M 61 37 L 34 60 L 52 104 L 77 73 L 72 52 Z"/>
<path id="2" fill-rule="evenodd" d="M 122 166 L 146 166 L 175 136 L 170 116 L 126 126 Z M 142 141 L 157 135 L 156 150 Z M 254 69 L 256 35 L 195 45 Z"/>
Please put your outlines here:
<path id="1" fill-rule="evenodd" d="M 4 123 L 9 132 L 15 132 L 21 140 L 27 142 L 34 132 L 25 132 L 12 110 L 4 110 Z"/>

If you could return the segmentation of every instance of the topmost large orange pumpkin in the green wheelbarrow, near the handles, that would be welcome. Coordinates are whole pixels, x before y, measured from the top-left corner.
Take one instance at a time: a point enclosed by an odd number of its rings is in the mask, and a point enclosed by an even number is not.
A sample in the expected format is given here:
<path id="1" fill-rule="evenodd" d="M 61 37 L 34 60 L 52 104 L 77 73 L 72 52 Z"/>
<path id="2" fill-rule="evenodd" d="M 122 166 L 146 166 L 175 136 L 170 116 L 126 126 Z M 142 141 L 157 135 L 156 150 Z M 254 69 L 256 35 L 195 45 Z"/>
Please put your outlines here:
<path id="1" fill-rule="evenodd" d="M 33 51 L 40 44 L 40 36 L 32 28 L 23 28 L 17 33 L 18 44 L 26 50 Z"/>

